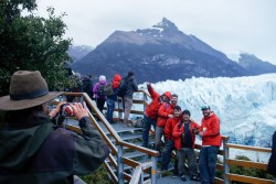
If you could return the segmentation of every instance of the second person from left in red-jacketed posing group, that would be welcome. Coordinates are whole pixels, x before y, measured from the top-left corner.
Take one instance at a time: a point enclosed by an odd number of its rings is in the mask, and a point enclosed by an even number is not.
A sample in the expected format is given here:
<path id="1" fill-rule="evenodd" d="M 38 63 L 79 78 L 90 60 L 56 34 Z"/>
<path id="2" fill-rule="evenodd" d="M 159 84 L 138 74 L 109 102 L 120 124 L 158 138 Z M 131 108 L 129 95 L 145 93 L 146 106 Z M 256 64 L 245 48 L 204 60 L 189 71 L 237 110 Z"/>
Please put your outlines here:
<path id="1" fill-rule="evenodd" d="M 173 118 L 173 107 L 178 102 L 178 95 L 172 95 L 170 102 L 164 102 L 158 110 L 157 128 L 156 128 L 156 150 L 161 151 L 161 138 L 168 118 Z"/>

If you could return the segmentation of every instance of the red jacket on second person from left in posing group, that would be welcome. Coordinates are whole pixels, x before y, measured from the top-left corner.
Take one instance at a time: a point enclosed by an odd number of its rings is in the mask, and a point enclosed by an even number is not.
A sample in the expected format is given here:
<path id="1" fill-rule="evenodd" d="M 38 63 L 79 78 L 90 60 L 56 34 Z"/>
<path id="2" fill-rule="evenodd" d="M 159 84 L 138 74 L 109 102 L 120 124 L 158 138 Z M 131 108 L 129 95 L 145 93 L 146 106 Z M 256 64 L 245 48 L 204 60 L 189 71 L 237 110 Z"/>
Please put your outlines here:
<path id="1" fill-rule="evenodd" d="M 163 102 L 158 110 L 157 126 L 164 127 L 168 116 L 173 113 L 173 105 Z"/>

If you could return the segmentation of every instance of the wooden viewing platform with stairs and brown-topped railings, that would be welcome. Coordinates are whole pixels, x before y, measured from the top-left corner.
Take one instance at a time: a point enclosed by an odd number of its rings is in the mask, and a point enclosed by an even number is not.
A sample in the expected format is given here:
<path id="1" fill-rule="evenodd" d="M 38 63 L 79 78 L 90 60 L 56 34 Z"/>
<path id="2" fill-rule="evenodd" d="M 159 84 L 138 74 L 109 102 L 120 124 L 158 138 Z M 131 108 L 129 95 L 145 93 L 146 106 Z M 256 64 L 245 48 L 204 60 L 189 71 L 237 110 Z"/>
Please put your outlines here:
<path id="1" fill-rule="evenodd" d="M 139 97 L 141 97 L 141 99 L 135 99 L 134 104 L 144 106 L 141 109 L 145 110 L 148 106 L 147 99 L 150 98 L 150 96 L 142 90 L 138 93 L 140 94 Z M 112 152 L 104 164 L 114 183 L 183 183 L 180 178 L 162 176 L 158 172 L 157 156 L 159 153 L 155 150 L 140 147 L 141 143 L 139 141 L 141 140 L 141 128 L 124 127 L 119 123 L 123 120 L 123 105 L 120 99 L 118 100 L 117 108 L 115 109 L 115 111 L 118 112 L 118 118 L 114 119 L 118 123 L 110 125 L 87 94 L 65 93 L 64 96 L 74 96 L 77 101 L 86 101 L 87 106 L 92 108 L 92 112 L 89 113 L 91 120 L 100 133 L 102 138 L 107 142 Z M 131 113 L 142 116 L 144 111 L 131 110 Z M 99 121 L 95 119 L 95 116 L 98 117 Z M 81 132 L 81 129 L 77 126 L 73 126 L 76 125 L 74 121 L 75 120 L 71 119 L 70 123 L 65 125 L 66 128 Z M 153 130 L 151 130 L 151 133 L 153 133 Z M 274 184 L 273 180 L 238 175 L 230 172 L 230 167 L 233 165 L 258 169 L 264 172 L 267 167 L 267 163 L 230 159 L 231 149 L 264 152 L 268 154 L 272 152 L 272 149 L 232 144 L 227 143 L 227 137 L 223 137 L 222 150 L 219 152 L 219 156 L 222 158 L 222 163 L 216 164 L 216 171 L 222 173 L 222 178 L 216 177 L 215 183 L 229 184 L 231 182 L 243 182 L 254 184 Z M 200 149 L 201 145 L 197 144 L 195 150 L 199 152 Z M 200 183 L 189 181 L 189 177 L 187 178 L 188 181 L 185 183 Z"/>

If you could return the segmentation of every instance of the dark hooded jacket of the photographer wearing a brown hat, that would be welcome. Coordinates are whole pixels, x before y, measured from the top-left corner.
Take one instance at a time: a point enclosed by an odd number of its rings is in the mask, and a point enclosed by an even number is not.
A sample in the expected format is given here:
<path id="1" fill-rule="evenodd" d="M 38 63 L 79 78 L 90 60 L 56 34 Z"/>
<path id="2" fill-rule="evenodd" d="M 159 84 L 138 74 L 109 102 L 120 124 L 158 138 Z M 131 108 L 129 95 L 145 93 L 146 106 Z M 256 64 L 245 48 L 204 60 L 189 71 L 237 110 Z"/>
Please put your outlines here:
<path id="1" fill-rule="evenodd" d="M 109 154 L 88 117 L 79 120 L 83 134 L 56 128 L 45 116 L 21 126 L 0 130 L 0 183 L 73 183 L 73 175 L 89 174 Z"/>

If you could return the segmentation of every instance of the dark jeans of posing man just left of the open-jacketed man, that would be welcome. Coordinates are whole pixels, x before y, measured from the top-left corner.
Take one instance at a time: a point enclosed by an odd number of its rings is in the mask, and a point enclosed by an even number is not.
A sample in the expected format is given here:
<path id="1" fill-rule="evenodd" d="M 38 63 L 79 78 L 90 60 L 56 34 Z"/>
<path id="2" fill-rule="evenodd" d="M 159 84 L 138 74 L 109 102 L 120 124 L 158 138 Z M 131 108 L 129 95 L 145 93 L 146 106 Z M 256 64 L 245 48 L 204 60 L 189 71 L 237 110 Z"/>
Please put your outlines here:
<path id="1" fill-rule="evenodd" d="M 171 153 L 173 149 L 174 149 L 174 141 L 166 139 L 164 148 L 162 150 L 161 170 L 168 170 L 169 163 L 171 161 Z"/>

